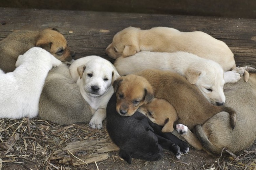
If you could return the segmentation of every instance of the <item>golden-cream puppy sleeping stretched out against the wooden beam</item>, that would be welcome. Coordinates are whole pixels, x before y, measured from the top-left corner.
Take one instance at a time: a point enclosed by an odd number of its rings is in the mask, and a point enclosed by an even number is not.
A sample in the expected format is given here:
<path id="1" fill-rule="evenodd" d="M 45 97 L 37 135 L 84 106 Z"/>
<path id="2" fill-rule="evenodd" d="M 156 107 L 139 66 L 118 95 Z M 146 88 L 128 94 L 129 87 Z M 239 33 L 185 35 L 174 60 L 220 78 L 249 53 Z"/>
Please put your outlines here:
<path id="1" fill-rule="evenodd" d="M 132 56 L 140 51 L 185 51 L 216 61 L 224 71 L 236 68 L 234 54 L 228 46 L 201 31 L 181 32 L 168 27 L 141 30 L 130 26 L 117 32 L 105 50 L 113 59 Z"/>

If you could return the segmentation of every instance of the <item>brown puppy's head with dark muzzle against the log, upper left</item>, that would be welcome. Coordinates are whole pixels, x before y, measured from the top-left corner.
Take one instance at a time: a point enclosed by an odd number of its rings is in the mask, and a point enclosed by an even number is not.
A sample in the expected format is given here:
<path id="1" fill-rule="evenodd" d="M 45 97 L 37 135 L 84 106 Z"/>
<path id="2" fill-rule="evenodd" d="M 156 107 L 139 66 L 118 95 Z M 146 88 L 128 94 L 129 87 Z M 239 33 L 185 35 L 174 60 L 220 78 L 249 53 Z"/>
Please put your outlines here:
<path id="1" fill-rule="evenodd" d="M 75 52 L 70 49 L 65 37 L 55 28 L 42 30 L 36 46 L 49 51 L 61 61 L 71 61 L 75 57 Z"/>

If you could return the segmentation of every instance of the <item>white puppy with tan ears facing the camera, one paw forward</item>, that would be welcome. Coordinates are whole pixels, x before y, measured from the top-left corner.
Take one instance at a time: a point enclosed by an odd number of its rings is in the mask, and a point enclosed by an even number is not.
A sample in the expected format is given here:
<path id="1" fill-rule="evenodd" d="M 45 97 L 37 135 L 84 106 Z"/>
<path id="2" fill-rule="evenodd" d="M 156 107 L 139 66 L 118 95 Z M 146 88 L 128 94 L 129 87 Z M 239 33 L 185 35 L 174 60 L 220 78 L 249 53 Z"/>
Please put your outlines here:
<path id="1" fill-rule="evenodd" d="M 92 128 L 102 128 L 108 101 L 114 93 L 112 84 L 120 75 L 110 61 L 99 56 L 77 59 L 69 69 L 82 96 L 91 107 L 93 116 L 89 125 Z"/>

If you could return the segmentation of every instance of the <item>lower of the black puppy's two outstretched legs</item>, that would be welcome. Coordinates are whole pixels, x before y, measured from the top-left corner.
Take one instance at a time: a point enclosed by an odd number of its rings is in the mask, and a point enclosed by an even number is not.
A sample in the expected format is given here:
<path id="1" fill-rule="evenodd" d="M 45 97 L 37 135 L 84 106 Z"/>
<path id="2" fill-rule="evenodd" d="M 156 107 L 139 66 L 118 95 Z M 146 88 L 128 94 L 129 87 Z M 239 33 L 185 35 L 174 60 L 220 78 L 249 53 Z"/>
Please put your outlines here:
<path id="1" fill-rule="evenodd" d="M 175 154 L 176 158 L 178 159 L 181 158 L 181 149 L 177 144 L 173 143 L 171 140 L 168 140 L 158 134 L 155 134 L 155 135 L 157 136 L 158 143 L 162 146 L 162 148 L 172 151 Z"/>

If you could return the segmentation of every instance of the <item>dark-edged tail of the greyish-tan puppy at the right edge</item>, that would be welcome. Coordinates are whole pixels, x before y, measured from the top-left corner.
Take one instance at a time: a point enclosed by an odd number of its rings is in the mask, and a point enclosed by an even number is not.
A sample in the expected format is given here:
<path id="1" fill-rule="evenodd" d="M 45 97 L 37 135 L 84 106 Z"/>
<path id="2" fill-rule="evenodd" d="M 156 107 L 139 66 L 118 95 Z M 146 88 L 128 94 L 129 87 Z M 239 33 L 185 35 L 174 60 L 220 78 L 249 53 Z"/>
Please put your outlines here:
<path id="1" fill-rule="evenodd" d="M 195 127 L 195 134 L 198 138 L 198 140 L 200 141 L 200 143 L 202 144 L 203 148 L 211 153 L 211 154 L 219 154 L 221 153 L 220 148 L 218 148 L 217 146 L 215 146 L 214 144 L 212 144 L 207 135 L 205 134 L 205 132 L 203 131 L 203 127 L 202 125 L 196 125 Z"/>

